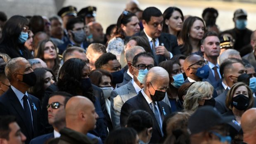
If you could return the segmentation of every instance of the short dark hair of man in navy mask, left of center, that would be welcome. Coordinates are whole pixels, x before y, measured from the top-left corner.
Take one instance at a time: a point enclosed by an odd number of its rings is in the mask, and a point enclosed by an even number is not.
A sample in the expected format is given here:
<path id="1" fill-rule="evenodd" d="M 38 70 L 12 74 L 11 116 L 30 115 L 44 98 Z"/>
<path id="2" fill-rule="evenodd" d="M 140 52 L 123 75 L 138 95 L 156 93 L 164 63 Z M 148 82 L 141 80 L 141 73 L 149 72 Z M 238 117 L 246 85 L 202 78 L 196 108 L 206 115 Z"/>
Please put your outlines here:
<path id="1" fill-rule="evenodd" d="M 116 55 L 112 54 L 111 52 L 107 52 L 102 54 L 96 61 L 95 61 L 95 68 L 101 68 L 103 65 L 107 64 L 110 60 L 116 59 Z"/>

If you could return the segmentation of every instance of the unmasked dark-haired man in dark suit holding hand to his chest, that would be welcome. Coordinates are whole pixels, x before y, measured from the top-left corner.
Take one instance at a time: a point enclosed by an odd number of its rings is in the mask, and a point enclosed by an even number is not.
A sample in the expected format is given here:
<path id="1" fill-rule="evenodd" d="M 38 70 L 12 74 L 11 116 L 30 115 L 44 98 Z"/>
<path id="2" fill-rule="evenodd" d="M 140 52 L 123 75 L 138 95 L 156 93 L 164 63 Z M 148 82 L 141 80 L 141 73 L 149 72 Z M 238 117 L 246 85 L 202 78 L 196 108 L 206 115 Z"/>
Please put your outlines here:
<path id="1" fill-rule="evenodd" d="M 181 54 L 177 38 L 168 33 L 162 33 L 163 14 L 156 7 L 147 7 L 142 13 L 144 29 L 135 35 L 145 37 L 150 44 L 151 52 L 155 57 L 156 65 L 175 54 Z"/>

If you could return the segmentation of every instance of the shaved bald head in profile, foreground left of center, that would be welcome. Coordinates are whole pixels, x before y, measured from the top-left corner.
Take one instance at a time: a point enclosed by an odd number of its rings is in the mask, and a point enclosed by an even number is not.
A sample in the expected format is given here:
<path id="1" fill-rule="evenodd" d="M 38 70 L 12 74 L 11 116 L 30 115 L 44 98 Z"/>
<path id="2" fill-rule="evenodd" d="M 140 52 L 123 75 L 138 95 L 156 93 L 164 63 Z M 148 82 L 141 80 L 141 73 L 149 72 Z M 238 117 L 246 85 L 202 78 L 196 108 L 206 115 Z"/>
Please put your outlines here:
<path id="1" fill-rule="evenodd" d="M 96 127 L 96 119 L 93 103 L 87 97 L 71 97 L 66 103 L 66 127 L 86 134 L 89 130 Z"/>

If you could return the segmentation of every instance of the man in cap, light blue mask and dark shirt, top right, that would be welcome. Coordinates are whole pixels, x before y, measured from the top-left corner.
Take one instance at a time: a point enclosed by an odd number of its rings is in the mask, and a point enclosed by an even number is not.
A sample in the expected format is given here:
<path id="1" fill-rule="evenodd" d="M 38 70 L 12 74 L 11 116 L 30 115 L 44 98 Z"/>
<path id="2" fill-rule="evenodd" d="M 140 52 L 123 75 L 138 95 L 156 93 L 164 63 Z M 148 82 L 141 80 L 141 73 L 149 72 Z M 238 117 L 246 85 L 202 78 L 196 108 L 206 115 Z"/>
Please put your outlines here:
<path id="1" fill-rule="evenodd" d="M 247 12 L 244 9 L 237 9 L 234 13 L 233 21 L 235 28 L 223 33 L 230 33 L 232 35 L 235 39 L 234 49 L 239 51 L 241 56 L 244 56 L 252 51 L 251 46 L 249 46 L 252 31 L 246 28 Z"/>

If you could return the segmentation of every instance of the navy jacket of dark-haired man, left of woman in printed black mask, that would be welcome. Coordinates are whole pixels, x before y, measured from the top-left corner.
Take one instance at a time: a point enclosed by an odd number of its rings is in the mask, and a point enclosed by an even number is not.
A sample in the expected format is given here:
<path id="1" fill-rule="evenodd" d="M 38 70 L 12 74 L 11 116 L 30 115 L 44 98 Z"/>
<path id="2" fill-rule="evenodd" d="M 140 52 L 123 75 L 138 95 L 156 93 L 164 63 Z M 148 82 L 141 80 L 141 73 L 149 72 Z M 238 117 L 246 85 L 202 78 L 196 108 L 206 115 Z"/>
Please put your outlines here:
<path id="1" fill-rule="evenodd" d="M 220 94 L 218 97 L 215 98 L 215 107 L 216 109 L 221 113 L 225 113 L 228 111 L 228 108 L 225 106 L 225 100 L 228 94 L 228 88 L 222 93 Z"/>

